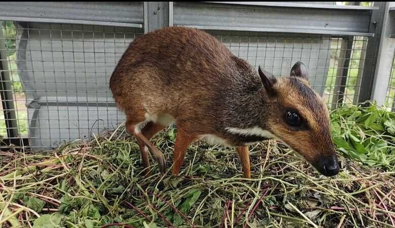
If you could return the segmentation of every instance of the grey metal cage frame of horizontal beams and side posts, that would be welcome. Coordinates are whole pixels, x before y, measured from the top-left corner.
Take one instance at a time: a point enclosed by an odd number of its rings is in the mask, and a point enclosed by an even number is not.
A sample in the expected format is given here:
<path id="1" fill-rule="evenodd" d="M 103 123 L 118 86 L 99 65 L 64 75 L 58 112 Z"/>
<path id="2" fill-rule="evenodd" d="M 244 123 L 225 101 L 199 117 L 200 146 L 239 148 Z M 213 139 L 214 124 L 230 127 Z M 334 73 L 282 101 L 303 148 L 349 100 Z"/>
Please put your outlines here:
<path id="1" fill-rule="evenodd" d="M 129 27 L 144 33 L 165 26 L 188 26 L 208 31 L 281 32 L 286 34 L 328 35 L 338 39 L 341 67 L 333 88 L 333 105 L 343 103 L 347 72 L 358 37 L 363 40 L 363 61 L 358 80 L 360 87 L 353 102 L 376 100 L 384 104 L 390 86 L 395 36 L 395 6 L 376 2 L 374 6 L 339 6 L 320 3 L 287 2 L 134 2 L 134 3 L 62 3 L 2 2 L 0 21 L 59 23 Z M 67 9 L 65 11 L 64 9 Z M 45 14 L 43 13 L 45 12 Z M 312 20 L 313 19 L 313 20 Z M 0 38 L 2 37 L 0 29 Z M 257 45 L 258 46 L 258 45 Z M 389 48 L 388 48 L 389 47 Z M 240 47 L 239 47 L 240 48 Z M 248 47 L 249 48 L 249 47 Z M 5 50 L 0 39 L 0 51 Z M 389 54 L 388 54 L 389 53 Z M 6 56 L 0 52 L 0 59 Z M 10 144 L 28 148 L 29 139 L 18 137 L 10 75 L 6 61 L 0 61 L 0 95 Z M 363 69 L 363 70 L 362 70 Z M 48 102 L 48 100 L 47 100 Z M 394 102 L 395 103 L 395 102 Z"/>

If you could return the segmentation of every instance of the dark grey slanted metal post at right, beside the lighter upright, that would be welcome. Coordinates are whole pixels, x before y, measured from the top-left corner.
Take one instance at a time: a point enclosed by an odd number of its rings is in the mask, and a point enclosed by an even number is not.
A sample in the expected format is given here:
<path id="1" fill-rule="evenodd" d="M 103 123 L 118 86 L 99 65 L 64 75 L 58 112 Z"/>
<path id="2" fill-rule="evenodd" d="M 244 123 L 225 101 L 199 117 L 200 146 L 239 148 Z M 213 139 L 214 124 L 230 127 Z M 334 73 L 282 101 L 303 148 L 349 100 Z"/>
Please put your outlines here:
<path id="1" fill-rule="evenodd" d="M 361 80 L 361 89 L 358 102 L 365 102 L 371 99 L 374 75 L 378 60 L 378 52 L 380 49 L 381 33 L 383 29 L 383 22 L 385 11 L 388 11 L 388 2 L 374 2 L 379 10 L 372 12 L 369 32 L 374 33 L 373 37 L 369 37 L 368 45 L 366 47 L 366 57 L 364 64 L 364 71 Z"/>

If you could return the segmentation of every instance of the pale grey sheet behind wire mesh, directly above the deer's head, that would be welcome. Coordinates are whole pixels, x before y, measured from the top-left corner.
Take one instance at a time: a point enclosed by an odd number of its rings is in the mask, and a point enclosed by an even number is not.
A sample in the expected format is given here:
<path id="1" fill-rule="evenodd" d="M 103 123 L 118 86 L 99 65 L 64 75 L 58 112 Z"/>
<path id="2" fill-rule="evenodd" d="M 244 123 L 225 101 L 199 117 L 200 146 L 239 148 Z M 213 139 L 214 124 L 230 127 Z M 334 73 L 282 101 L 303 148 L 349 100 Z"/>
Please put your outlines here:
<path id="1" fill-rule="evenodd" d="M 213 32 L 236 56 L 275 76 L 289 76 L 292 65 L 309 66 L 310 83 L 321 94 L 329 66 L 330 36 L 258 32 Z"/>

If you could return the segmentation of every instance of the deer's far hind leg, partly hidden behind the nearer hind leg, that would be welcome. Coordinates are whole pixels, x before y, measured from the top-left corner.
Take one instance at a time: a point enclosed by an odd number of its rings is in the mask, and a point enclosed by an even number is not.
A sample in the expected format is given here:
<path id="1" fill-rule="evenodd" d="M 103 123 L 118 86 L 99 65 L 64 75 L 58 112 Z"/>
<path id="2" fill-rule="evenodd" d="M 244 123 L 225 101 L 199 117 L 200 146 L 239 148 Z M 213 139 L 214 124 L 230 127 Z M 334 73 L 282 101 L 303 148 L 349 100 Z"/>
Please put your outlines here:
<path id="1" fill-rule="evenodd" d="M 147 123 L 147 125 L 145 125 L 143 129 L 141 129 L 141 133 L 149 140 L 152 136 L 154 136 L 157 132 L 163 130 L 164 128 L 165 126 L 150 121 Z M 140 147 L 141 160 L 143 161 L 143 167 L 144 167 L 144 174 L 145 176 L 149 176 L 151 170 L 149 168 L 148 147 L 141 140 L 137 140 L 137 144 Z"/>

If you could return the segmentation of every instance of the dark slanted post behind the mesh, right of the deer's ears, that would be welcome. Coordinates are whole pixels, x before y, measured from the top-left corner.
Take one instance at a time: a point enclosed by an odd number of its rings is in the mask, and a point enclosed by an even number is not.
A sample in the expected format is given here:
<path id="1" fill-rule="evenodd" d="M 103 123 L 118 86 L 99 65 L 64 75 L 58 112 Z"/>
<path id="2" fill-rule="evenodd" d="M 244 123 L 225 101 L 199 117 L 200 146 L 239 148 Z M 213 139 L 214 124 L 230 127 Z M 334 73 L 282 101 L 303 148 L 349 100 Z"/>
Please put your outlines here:
<path id="1" fill-rule="evenodd" d="M 353 36 L 343 37 L 340 47 L 340 56 L 337 69 L 337 77 L 335 82 L 335 89 L 332 99 L 332 109 L 340 106 L 343 103 L 344 91 L 347 83 L 348 67 L 350 65 L 351 50 L 353 43 Z"/>

